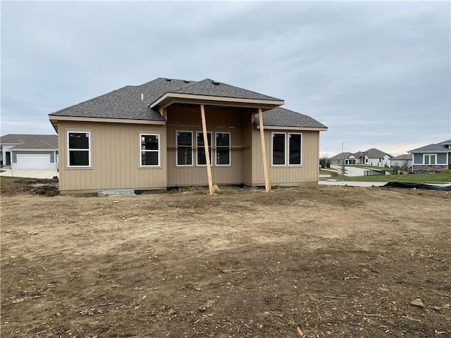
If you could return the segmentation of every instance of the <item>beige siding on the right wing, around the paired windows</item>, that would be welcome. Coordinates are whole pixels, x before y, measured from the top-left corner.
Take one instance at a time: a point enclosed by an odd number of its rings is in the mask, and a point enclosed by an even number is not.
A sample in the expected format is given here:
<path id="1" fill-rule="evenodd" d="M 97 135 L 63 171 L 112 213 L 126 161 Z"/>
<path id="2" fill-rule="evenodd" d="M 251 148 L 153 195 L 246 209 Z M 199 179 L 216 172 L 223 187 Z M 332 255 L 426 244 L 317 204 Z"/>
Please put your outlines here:
<path id="1" fill-rule="evenodd" d="M 272 133 L 300 133 L 302 134 L 302 165 L 271 165 Z M 265 129 L 266 156 L 268 162 L 268 175 L 273 185 L 310 186 L 319 180 L 319 132 L 270 130 Z M 288 142 L 285 154 L 288 152 Z M 287 160 L 288 161 L 288 160 Z M 260 130 L 252 130 L 252 185 L 264 185 L 263 158 L 261 156 Z"/>

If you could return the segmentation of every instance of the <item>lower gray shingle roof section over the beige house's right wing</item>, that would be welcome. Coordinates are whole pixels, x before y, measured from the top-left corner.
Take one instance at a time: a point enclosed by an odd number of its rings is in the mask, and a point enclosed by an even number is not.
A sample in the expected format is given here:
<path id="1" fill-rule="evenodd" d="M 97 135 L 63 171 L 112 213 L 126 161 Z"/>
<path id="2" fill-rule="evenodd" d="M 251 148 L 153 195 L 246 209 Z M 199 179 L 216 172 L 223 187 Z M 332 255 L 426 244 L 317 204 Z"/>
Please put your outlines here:
<path id="1" fill-rule="evenodd" d="M 259 115 L 255 115 L 255 123 L 259 125 Z M 327 128 L 310 116 L 277 107 L 263 113 L 263 125 L 276 127 L 314 127 Z"/>

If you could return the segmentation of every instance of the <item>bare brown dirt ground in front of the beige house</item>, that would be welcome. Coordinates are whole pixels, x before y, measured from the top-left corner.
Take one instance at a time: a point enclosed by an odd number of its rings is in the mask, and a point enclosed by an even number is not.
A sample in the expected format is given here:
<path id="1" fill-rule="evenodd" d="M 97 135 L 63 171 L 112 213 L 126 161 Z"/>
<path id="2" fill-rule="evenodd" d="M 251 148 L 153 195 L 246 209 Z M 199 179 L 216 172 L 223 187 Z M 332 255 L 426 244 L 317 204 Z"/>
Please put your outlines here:
<path id="1" fill-rule="evenodd" d="M 1 196 L 1 337 L 451 337 L 451 193 L 29 183 Z"/>

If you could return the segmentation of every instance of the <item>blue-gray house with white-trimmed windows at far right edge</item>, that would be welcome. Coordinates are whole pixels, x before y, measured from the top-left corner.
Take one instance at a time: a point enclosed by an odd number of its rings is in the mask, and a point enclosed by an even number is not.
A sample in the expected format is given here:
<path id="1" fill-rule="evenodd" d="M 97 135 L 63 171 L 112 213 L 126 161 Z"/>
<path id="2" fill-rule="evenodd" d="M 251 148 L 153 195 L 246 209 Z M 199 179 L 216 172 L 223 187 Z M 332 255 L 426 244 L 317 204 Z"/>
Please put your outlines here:
<path id="1" fill-rule="evenodd" d="M 451 169 L 451 139 L 437 144 L 428 144 L 409 151 L 414 156 L 413 173 L 439 173 Z"/>

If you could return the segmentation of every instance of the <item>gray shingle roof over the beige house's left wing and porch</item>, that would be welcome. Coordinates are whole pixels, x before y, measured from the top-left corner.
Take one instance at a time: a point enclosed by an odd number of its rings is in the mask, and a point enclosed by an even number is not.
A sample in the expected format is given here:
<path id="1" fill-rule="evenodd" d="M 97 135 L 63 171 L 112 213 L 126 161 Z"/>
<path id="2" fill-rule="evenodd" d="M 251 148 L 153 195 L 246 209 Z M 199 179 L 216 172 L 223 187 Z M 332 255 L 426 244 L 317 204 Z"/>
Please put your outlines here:
<path id="1" fill-rule="evenodd" d="M 214 82 L 210 79 L 197 82 L 159 77 L 139 86 L 126 86 L 113 90 L 113 92 L 97 96 L 94 99 L 75 104 L 49 115 L 163 121 L 159 111 L 149 108 L 149 105 L 166 93 L 279 100 L 222 82 Z"/>

